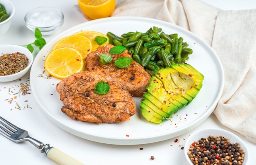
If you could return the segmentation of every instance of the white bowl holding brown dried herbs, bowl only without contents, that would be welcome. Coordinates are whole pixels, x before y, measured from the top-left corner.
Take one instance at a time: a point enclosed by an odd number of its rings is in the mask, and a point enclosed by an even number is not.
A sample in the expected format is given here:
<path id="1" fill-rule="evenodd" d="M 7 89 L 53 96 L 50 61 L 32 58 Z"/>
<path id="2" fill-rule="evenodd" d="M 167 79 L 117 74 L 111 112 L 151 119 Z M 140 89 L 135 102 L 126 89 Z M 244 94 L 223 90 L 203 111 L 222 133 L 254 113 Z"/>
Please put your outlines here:
<path id="1" fill-rule="evenodd" d="M 28 66 L 25 69 L 21 70 L 18 73 L 13 74 L 13 75 L 0 76 L 0 82 L 8 82 L 8 81 L 13 81 L 13 80 L 19 79 L 22 76 L 24 76 L 31 68 L 34 58 L 33 58 L 32 53 L 27 48 L 18 46 L 18 45 L 0 45 L 0 55 L 1 56 L 4 54 L 7 54 L 7 53 L 16 53 L 16 52 L 25 54 L 27 56 L 27 58 L 29 60 Z"/>

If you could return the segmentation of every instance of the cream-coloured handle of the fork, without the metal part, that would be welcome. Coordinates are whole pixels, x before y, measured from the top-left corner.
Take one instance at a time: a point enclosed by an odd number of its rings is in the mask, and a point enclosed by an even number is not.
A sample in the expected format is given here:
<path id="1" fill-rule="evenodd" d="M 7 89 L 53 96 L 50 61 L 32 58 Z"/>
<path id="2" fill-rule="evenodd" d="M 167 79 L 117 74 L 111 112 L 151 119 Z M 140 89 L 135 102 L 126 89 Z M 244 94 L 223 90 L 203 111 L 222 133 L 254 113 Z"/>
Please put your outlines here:
<path id="1" fill-rule="evenodd" d="M 50 147 L 49 150 L 46 152 L 46 156 L 59 165 L 84 165 L 83 163 L 77 161 L 76 159 L 68 156 L 64 152 L 56 149 L 55 147 Z"/>

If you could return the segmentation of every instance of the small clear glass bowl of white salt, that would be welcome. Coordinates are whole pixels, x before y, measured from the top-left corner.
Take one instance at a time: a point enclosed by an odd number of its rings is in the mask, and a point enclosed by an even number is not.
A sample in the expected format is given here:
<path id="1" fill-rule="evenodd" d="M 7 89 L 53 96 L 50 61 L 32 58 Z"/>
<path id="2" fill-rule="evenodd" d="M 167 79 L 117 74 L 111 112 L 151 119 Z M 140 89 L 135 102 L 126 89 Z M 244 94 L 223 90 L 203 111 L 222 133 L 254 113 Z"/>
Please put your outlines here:
<path id="1" fill-rule="evenodd" d="M 63 13 L 53 7 L 38 7 L 25 15 L 25 23 L 28 29 L 40 30 L 42 35 L 52 35 L 64 22 Z"/>

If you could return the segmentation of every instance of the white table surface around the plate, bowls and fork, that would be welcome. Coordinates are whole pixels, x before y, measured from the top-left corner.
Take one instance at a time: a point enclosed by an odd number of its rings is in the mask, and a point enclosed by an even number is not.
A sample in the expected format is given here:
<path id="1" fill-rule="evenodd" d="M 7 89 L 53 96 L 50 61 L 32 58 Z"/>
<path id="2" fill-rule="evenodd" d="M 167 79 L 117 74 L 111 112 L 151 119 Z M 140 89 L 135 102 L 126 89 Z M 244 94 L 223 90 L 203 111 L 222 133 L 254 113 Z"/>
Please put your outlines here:
<path id="1" fill-rule="evenodd" d="M 13 17 L 12 25 L 9 31 L 0 39 L 0 45 L 18 44 L 25 45 L 34 42 L 34 33 L 29 31 L 24 22 L 25 14 L 36 7 L 51 6 L 57 7 L 63 11 L 65 22 L 61 29 L 54 35 L 44 36 L 46 41 L 50 41 L 59 33 L 71 28 L 77 24 L 85 22 L 85 19 L 77 11 L 76 0 L 11 0 L 16 7 L 16 13 Z M 223 10 L 239 10 L 239 9 L 256 9 L 254 0 L 202 0 L 205 3 L 211 4 Z M 245 141 L 249 149 L 249 162 L 254 164 L 256 157 L 253 153 L 256 151 L 256 144 L 245 139 L 241 134 L 230 130 L 222 125 L 211 114 L 200 126 L 177 136 L 173 139 L 161 141 L 157 143 L 144 145 L 108 145 L 97 142 L 88 141 L 77 136 L 74 136 L 58 126 L 54 125 L 41 112 L 40 107 L 36 105 L 33 94 L 17 97 L 9 103 L 6 99 L 14 97 L 11 91 L 19 90 L 20 83 L 26 83 L 29 74 L 22 77 L 18 82 L 0 82 L 0 116 L 15 123 L 20 128 L 29 131 L 29 135 L 42 141 L 49 143 L 51 146 L 69 154 L 86 165 L 104 164 L 104 165 L 119 165 L 119 164 L 140 164 L 140 165 L 186 165 L 184 159 L 184 150 L 181 147 L 185 144 L 185 140 L 195 130 L 204 128 L 222 128 L 233 132 Z M 31 92 L 33 93 L 33 92 Z M 25 102 L 27 100 L 27 102 Z M 16 103 L 19 104 L 21 110 L 15 108 Z M 29 105 L 31 108 L 27 108 Z M 23 109 L 25 107 L 25 109 Z M 174 143 L 175 139 L 179 139 L 179 143 Z M 40 153 L 36 147 L 29 142 L 13 143 L 6 138 L 0 136 L 0 164 L 1 165 L 56 165 L 44 154 Z M 140 150 L 143 148 L 143 150 Z M 150 156 L 155 159 L 151 160 Z M 251 165 L 251 164 L 250 164 Z"/>

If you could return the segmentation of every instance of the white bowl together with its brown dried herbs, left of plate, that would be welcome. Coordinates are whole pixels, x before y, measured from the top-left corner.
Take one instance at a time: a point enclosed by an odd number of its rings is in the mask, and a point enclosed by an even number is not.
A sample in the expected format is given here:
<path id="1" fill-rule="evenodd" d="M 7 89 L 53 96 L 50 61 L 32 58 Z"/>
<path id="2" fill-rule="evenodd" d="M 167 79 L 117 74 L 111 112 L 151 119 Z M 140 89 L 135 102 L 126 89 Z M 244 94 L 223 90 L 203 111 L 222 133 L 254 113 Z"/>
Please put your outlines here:
<path id="1" fill-rule="evenodd" d="M 14 81 L 24 76 L 33 63 L 32 53 L 18 45 L 0 45 L 0 82 Z"/>

